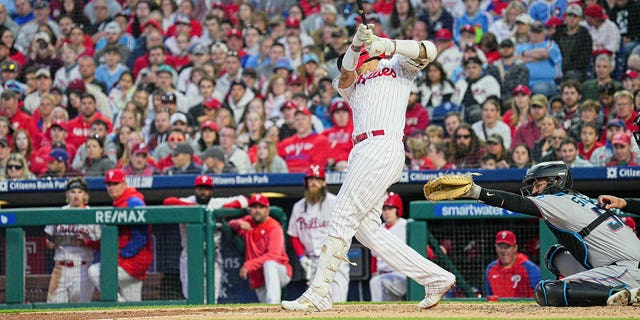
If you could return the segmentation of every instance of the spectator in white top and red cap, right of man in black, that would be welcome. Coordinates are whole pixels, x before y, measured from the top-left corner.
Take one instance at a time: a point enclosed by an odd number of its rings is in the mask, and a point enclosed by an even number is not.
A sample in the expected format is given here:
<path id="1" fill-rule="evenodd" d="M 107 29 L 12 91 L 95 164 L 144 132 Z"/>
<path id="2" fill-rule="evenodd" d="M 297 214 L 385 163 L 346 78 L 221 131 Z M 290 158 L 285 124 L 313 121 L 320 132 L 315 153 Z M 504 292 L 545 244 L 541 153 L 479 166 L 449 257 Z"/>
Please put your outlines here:
<path id="1" fill-rule="evenodd" d="M 620 50 L 620 29 L 609 20 L 609 16 L 599 4 L 592 4 L 584 9 L 587 30 L 593 39 L 592 54 L 606 53 L 614 55 Z"/>

